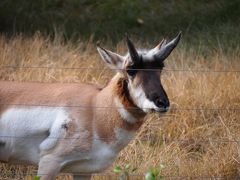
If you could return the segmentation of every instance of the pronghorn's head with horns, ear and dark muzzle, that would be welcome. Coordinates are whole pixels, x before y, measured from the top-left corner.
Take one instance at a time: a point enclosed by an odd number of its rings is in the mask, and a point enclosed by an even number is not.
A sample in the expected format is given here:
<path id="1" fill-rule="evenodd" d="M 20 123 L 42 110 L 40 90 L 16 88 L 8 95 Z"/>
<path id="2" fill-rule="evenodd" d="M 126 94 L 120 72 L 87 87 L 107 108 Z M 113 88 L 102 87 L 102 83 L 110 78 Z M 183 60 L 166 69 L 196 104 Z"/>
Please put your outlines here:
<path id="1" fill-rule="evenodd" d="M 102 59 L 127 80 L 129 94 L 139 108 L 144 112 L 166 112 L 170 103 L 161 83 L 161 71 L 165 59 L 177 46 L 180 38 L 181 33 L 169 43 L 162 40 L 151 50 L 138 51 L 127 37 L 128 54 L 125 56 L 102 47 L 97 49 Z"/>

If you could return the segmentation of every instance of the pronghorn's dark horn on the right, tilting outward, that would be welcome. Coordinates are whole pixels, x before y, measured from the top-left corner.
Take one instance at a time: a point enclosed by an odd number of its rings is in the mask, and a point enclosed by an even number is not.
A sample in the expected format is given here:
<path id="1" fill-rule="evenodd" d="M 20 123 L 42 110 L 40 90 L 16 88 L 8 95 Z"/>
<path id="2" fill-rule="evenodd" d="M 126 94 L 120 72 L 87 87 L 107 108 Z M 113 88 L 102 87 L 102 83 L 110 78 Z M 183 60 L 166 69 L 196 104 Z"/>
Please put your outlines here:
<path id="1" fill-rule="evenodd" d="M 156 59 L 160 61 L 164 61 L 172 52 L 172 50 L 177 46 L 178 42 L 180 41 L 182 33 L 179 32 L 176 38 L 174 38 L 171 42 L 167 43 L 166 45 L 163 43 L 160 50 L 154 55 Z"/>

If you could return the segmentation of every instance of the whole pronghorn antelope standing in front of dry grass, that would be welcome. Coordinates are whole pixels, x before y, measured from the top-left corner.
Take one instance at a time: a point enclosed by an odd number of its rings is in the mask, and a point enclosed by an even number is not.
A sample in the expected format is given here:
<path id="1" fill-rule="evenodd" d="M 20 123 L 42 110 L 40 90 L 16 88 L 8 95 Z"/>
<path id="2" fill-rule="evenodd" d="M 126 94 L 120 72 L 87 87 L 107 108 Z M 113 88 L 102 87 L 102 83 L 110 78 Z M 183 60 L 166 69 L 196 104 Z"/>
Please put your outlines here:
<path id="1" fill-rule="evenodd" d="M 109 167 L 134 137 L 148 112 L 166 112 L 161 84 L 171 42 L 128 53 L 97 50 L 116 75 L 99 89 L 88 84 L 0 83 L 0 161 L 38 165 L 41 180 L 59 172 L 89 179 Z M 154 69 L 154 71 L 148 71 Z"/>

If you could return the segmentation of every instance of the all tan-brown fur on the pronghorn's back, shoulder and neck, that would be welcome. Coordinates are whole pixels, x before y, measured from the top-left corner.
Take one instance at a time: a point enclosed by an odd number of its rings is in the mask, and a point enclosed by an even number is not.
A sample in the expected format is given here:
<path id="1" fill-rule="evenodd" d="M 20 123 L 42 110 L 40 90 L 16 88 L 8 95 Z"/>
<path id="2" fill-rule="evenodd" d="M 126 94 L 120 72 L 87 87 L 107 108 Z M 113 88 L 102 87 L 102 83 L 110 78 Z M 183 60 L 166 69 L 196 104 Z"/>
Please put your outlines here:
<path id="1" fill-rule="evenodd" d="M 25 108 L 36 105 L 64 106 L 71 114 L 66 125 L 66 138 L 71 140 L 71 144 L 70 140 L 61 139 L 59 143 L 62 145 L 54 149 L 54 152 L 65 154 L 80 147 L 88 150 L 92 141 L 92 124 L 96 127 L 99 138 L 106 142 L 114 140 L 115 127 L 136 131 L 141 126 L 141 120 L 134 124 L 123 120 L 115 106 L 114 97 L 117 96 L 134 117 L 141 119 L 145 115 L 126 97 L 123 80 L 123 77 L 116 75 L 102 90 L 86 84 L 0 82 L 1 114 L 14 105 L 27 105 Z M 76 147 L 72 147 L 73 143 Z"/>

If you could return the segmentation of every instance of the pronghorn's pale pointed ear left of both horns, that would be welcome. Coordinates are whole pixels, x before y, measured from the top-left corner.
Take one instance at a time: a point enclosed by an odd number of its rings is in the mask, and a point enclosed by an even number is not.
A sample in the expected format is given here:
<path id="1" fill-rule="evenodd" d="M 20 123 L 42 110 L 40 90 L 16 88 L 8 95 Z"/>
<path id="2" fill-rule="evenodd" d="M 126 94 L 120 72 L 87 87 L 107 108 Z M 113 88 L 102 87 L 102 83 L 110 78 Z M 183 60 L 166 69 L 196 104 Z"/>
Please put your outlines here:
<path id="1" fill-rule="evenodd" d="M 101 58 L 110 66 L 112 69 L 121 70 L 123 68 L 124 58 L 117 53 L 106 50 L 100 46 L 97 46 L 97 50 Z"/>

